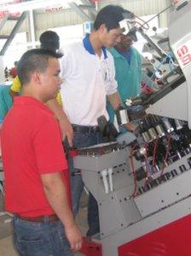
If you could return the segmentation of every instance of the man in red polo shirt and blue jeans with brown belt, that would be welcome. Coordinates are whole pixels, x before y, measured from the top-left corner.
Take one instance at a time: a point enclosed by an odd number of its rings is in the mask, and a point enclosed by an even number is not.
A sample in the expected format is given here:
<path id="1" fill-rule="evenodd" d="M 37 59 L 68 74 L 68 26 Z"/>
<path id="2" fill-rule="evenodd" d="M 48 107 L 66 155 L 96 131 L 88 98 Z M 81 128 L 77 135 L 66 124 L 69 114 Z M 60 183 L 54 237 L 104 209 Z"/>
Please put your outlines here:
<path id="1" fill-rule="evenodd" d="M 23 93 L 3 122 L 5 207 L 14 213 L 14 245 L 20 255 L 70 256 L 82 246 L 68 204 L 61 130 L 44 105 L 61 86 L 57 57 L 43 49 L 21 57 L 17 72 Z"/>

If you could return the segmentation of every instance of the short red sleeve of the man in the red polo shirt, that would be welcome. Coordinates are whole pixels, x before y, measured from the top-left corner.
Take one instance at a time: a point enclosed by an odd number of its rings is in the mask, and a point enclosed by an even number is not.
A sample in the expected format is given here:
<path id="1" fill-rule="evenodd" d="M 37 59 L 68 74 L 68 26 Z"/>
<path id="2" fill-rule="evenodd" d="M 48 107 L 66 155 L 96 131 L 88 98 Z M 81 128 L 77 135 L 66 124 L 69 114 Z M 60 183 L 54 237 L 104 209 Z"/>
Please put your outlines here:
<path id="1" fill-rule="evenodd" d="M 34 150 L 40 174 L 67 170 L 67 159 L 61 143 L 61 130 L 52 117 L 34 135 Z"/>

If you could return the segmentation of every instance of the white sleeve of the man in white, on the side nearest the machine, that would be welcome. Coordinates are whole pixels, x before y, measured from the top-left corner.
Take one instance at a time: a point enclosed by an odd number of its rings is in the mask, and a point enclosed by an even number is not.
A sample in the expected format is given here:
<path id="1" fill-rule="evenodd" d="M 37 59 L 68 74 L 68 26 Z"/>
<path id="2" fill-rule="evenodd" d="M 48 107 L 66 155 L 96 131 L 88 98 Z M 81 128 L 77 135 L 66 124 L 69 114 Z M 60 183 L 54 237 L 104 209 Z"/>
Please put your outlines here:
<path id="1" fill-rule="evenodd" d="M 118 83 L 115 80 L 115 66 L 113 61 L 113 56 L 107 51 L 107 65 L 109 72 L 109 80 L 107 81 L 107 95 L 111 95 L 117 92 Z"/>

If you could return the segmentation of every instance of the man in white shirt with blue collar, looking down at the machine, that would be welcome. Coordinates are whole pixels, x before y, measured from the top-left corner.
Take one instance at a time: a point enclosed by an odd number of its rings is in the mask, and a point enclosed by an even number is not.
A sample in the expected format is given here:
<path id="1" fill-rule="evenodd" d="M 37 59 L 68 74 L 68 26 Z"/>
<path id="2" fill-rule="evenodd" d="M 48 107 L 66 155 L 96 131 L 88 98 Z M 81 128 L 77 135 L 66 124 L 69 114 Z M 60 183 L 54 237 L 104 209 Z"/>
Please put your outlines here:
<path id="1" fill-rule="evenodd" d="M 125 9 L 118 5 L 107 5 L 100 10 L 94 23 L 94 31 L 87 35 L 82 42 L 69 45 L 61 59 L 61 98 L 63 110 L 55 102 L 49 107 L 55 111 L 63 130 L 71 128 L 67 138 L 72 138 L 75 148 L 93 146 L 103 142 L 97 126 L 97 118 L 108 114 L 106 100 L 108 99 L 114 110 L 120 106 L 117 92 L 117 82 L 114 79 L 113 57 L 106 48 L 118 44 L 122 29 L 119 21 L 126 14 Z M 69 120 L 69 122 L 67 121 Z M 68 140 L 72 146 L 72 140 Z M 72 158 L 69 158 L 72 186 L 72 208 L 78 213 L 78 203 L 84 188 L 78 170 L 73 170 Z M 87 235 L 99 232 L 99 217 L 96 199 L 90 194 L 88 205 L 89 231 Z"/>

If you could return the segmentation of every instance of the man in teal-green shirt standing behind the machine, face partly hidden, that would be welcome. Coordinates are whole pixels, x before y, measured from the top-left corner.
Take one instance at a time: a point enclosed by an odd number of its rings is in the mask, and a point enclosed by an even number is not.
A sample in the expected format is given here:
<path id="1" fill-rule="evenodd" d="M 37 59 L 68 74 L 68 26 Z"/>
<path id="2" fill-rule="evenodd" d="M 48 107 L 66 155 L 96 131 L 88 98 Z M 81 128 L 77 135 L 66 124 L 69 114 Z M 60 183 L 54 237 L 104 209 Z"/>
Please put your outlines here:
<path id="1" fill-rule="evenodd" d="M 115 65 L 115 79 L 118 82 L 118 92 L 124 102 L 126 98 L 136 97 L 141 92 L 142 58 L 141 54 L 132 46 L 129 35 L 122 35 L 118 45 L 109 49 L 113 55 Z M 114 111 L 107 102 L 110 122 L 114 120 Z"/>

